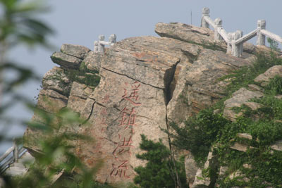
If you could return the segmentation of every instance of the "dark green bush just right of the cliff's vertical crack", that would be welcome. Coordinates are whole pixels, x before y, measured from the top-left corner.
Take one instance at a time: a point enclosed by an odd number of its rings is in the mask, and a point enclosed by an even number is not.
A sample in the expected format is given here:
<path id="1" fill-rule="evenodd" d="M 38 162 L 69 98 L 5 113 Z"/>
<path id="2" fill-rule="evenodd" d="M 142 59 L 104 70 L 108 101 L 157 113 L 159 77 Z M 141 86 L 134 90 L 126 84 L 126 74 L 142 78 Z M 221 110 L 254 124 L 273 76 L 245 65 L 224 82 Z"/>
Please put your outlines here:
<path id="1" fill-rule="evenodd" d="M 197 163 L 202 164 L 207 158 L 210 146 L 216 141 L 216 136 L 229 121 L 221 114 L 214 114 L 212 109 L 200 111 L 196 117 L 185 122 L 185 127 L 171 123 L 176 130 L 173 145 L 180 149 L 191 151 Z"/>

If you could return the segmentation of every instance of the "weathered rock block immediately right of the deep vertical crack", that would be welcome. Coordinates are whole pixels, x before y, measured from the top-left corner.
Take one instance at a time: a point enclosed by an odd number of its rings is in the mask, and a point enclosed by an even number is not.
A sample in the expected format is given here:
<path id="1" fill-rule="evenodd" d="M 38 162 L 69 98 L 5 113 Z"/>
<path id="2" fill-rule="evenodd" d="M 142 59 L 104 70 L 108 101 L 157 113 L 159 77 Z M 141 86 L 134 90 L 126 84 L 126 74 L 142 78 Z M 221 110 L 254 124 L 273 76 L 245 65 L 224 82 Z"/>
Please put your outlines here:
<path id="1" fill-rule="evenodd" d="M 190 61 L 192 65 L 178 64 L 179 81 L 168 104 L 168 119 L 176 123 L 181 123 L 226 96 L 227 82 L 219 82 L 219 78 L 244 65 L 250 65 L 243 59 L 210 49 L 202 49 L 197 58 Z"/>

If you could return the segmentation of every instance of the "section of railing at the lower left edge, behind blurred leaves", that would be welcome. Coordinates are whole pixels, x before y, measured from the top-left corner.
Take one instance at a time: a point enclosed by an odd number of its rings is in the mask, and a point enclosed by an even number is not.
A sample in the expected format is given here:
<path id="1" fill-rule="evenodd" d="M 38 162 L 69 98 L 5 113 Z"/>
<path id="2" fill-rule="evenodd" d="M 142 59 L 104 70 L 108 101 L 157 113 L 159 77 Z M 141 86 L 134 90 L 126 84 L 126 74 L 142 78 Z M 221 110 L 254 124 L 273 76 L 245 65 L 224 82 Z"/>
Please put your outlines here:
<path id="1" fill-rule="evenodd" d="M 23 146 L 18 146 L 16 142 L 13 142 L 13 146 L 0 156 L 0 174 L 4 173 L 12 163 L 18 162 L 18 158 L 23 156 L 26 151 L 27 149 L 23 148 Z M 12 156 L 11 153 L 13 153 Z"/>

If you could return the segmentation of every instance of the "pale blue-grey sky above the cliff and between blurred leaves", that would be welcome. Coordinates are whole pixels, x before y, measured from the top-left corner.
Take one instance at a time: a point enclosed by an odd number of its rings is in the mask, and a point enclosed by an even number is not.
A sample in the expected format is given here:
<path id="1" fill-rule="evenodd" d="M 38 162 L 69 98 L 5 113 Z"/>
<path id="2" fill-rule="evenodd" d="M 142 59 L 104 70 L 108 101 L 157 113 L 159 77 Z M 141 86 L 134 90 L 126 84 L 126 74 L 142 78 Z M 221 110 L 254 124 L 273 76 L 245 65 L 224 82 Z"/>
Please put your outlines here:
<path id="1" fill-rule="evenodd" d="M 227 32 L 243 30 L 244 34 L 255 30 L 257 20 L 266 20 L 266 30 L 282 35 L 281 0 L 48 0 L 50 13 L 41 15 L 56 31 L 49 37 L 49 42 L 59 51 L 61 44 L 80 44 L 93 49 L 93 42 L 98 35 L 104 34 L 106 39 L 115 33 L 117 39 L 144 35 L 157 36 L 154 25 L 159 22 L 191 23 L 200 25 L 202 8 L 210 8 L 210 16 L 221 18 Z M 252 40 L 254 41 L 254 40 Z M 49 56 L 52 51 L 37 48 L 29 51 L 19 46 L 11 52 L 10 57 L 22 65 L 30 67 L 41 77 L 55 64 Z M 37 96 L 40 82 L 30 82 L 20 88 L 20 93 L 30 99 Z M 29 120 L 32 113 L 17 106 L 10 115 Z M 8 135 L 23 134 L 25 127 L 11 126 Z M 0 130 L 1 131 L 1 130 Z M 0 145 L 0 155 L 8 147 Z"/>

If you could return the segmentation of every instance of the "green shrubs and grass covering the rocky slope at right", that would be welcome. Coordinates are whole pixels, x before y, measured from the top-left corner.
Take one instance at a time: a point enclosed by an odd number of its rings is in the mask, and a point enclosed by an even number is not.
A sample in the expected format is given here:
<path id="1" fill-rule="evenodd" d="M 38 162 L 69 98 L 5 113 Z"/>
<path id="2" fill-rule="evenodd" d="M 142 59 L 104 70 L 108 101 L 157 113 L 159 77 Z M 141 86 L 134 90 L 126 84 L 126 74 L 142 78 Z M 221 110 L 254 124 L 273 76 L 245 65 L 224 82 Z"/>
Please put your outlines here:
<path id="1" fill-rule="evenodd" d="M 254 67 L 242 68 L 230 76 L 232 83 L 229 90 L 234 92 L 247 86 L 257 75 L 273 65 L 282 65 L 282 59 L 274 54 L 269 57 L 258 56 Z M 214 154 L 220 165 L 228 167 L 225 175 L 215 175 L 216 184 L 220 187 L 282 187 L 282 152 L 270 148 L 271 144 L 282 139 L 282 99 L 275 97 L 282 94 L 281 88 L 282 77 L 274 77 L 264 87 L 262 99 L 252 100 L 262 104 L 262 108 L 256 111 L 247 106 L 236 108 L 237 113 L 243 113 L 236 122 L 224 119 L 222 113 L 214 114 L 214 108 L 210 108 L 190 118 L 185 127 L 172 125 L 176 130 L 173 144 L 191 151 L 200 165 L 205 162 L 211 146 L 214 146 Z M 223 102 L 220 105 L 222 104 Z M 220 105 L 216 107 L 222 108 Z M 243 132 L 252 135 L 252 140 L 237 137 L 238 133 Z M 252 147 L 245 153 L 236 151 L 230 149 L 234 142 Z M 250 164 L 252 168 L 244 168 L 243 164 Z M 242 177 L 230 180 L 228 175 L 238 170 L 243 173 Z M 215 171 L 218 172 L 219 169 Z"/>

